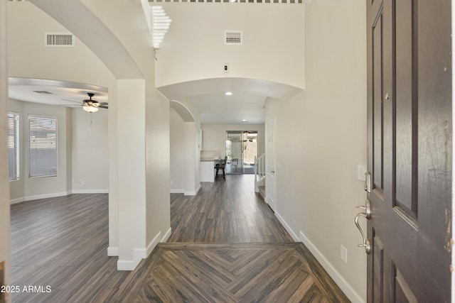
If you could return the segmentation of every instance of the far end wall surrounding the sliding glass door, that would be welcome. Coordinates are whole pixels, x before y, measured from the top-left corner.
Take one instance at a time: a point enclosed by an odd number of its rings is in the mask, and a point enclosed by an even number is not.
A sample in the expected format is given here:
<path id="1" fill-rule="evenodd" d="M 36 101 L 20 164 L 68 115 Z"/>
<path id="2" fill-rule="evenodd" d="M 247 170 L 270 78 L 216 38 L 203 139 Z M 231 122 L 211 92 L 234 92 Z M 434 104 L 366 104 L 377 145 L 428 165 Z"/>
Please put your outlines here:
<path id="1" fill-rule="evenodd" d="M 220 150 L 221 158 L 226 153 L 226 131 L 258 131 L 257 155 L 265 153 L 264 124 L 201 124 L 203 150 Z"/>

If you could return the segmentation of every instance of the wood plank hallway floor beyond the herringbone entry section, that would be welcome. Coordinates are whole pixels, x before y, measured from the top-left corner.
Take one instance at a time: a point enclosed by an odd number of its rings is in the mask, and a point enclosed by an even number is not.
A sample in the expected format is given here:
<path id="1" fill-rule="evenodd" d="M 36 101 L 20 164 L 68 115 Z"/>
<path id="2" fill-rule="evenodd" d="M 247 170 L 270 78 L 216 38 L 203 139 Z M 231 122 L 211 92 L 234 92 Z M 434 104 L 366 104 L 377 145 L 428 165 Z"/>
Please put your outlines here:
<path id="1" fill-rule="evenodd" d="M 254 175 L 227 175 L 203 182 L 196 196 L 171 194 L 168 242 L 292 242 L 254 189 Z"/>

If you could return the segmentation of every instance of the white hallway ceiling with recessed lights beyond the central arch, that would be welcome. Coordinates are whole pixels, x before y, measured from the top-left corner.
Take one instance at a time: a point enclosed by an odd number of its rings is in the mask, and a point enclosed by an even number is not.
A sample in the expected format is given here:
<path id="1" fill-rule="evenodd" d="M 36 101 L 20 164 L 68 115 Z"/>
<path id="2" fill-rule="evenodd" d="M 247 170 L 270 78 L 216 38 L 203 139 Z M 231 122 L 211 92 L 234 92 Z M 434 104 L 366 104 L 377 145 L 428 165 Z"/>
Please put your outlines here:
<path id="1" fill-rule="evenodd" d="M 191 104 L 204 124 L 262 124 L 267 97 L 289 100 L 301 92 L 286 84 L 229 77 L 183 82 L 158 89 L 169 100 Z M 232 92 L 232 95 L 226 96 L 225 92 Z"/>

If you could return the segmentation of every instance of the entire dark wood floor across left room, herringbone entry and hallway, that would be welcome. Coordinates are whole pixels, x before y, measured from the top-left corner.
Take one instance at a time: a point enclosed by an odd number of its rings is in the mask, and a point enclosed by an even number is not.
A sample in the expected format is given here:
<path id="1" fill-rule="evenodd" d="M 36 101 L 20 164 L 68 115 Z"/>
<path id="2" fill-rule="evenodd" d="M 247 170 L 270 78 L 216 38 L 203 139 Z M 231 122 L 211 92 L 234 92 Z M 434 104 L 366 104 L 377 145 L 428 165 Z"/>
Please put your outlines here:
<path id="1" fill-rule="evenodd" d="M 228 175 L 194 197 L 171 194 L 171 238 L 131 272 L 107 257 L 107 194 L 14 204 L 12 300 L 348 302 L 253 188 L 251 175 Z"/>

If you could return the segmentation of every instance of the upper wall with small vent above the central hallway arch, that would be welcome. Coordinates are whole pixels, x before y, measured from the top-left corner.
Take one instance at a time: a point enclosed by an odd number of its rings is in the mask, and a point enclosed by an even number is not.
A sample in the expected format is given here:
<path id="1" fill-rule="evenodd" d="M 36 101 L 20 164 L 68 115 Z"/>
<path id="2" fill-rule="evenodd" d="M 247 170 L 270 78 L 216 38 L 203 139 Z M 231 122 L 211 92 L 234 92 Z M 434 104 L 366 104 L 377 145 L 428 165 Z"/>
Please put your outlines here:
<path id="1" fill-rule="evenodd" d="M 159 5 L 172 23 L 156 53 L 156 87 L 217 77 L 304 87 L 304 5 Z M 225 30 L 242 30 L 243 45 L 225 45 Z"/>

